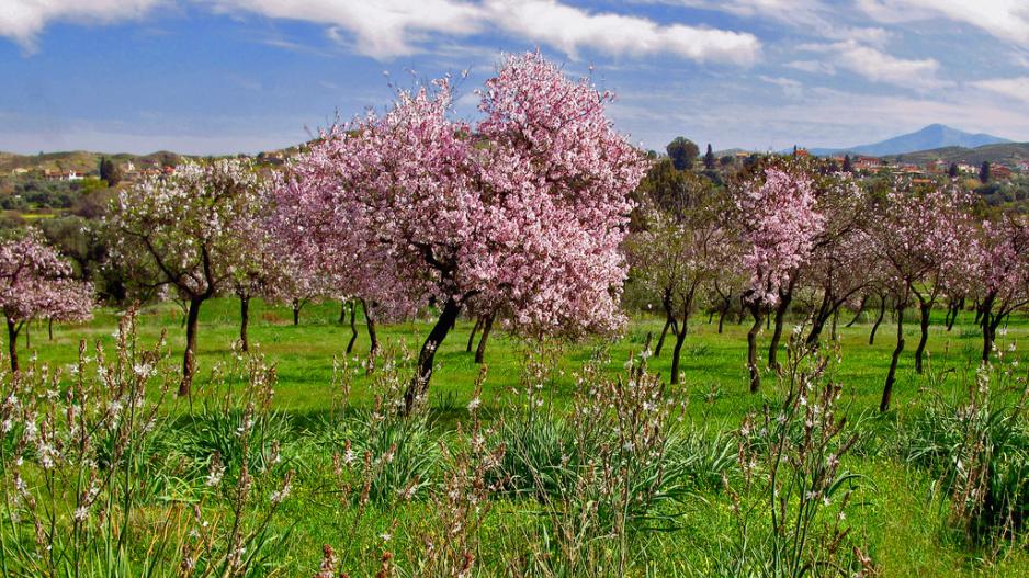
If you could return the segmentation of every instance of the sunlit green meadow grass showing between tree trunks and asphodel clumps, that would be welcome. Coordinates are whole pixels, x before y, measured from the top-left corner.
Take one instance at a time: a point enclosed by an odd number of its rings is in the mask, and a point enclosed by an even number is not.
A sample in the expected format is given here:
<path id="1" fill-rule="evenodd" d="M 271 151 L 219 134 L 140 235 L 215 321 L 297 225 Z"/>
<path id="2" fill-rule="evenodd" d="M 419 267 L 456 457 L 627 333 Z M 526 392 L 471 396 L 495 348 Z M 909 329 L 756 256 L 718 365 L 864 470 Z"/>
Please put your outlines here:
<path id="1" fill-rule="evenodd" d="M 278 545 L 269 548 L 267 564 L 259 565 L 253 575 L 313 576 L 324 557 L 323 544 L 332 546 L 340 566 L 350 576 L 373 576 L 380 571 L 383 551 L 395 556 L 392 571 L 396 575 L 417 574 L 412 569 L 416 560 L 406 557 L 405 552 L 414 552 L 411 548 L 421 535 L 418 529 L 431 518 L 429 514 L 438 505 L 414 499 L 372 500 L 366 507 L 344 507 L 333 489 L 332 455 L 324 440 L 327 423 L 340 411 L 340 386 L 333 377 L 333 365 L 343 356 L 351 335 L 349 325 L 338 322 L 339 307 L 339 303 L 310 304 L 303 309 L 299 325 L 293 326 L 292 311 L 287 308 L 262 303 L 251 305 L 251 350 L 276 370 L 272 411 L 278 416 L 283 438 L 283 460 L 296 471 L 292 495 L 283 500 L 269 525 L 268 531 L 275 536 Z M 26 348 L 24 331 L 21 338 L 23 363 L 34 358 L 36 364 L 68 367 L 77 359 L 80 339 L 100 341 L 105 349 L 113 349 L 118 315 L 120 311 L 104 309 L 84 326 L 55 326 L 52 340 L 44 325 L 32 326 L 31 345 Z M 180 363 L 177 355 L 184 343 L 181 310 L 170 304 L 149 306 L 139 313 L 138 319 L 140 343 L 152 343 L 161 331 L 167 331 L 173 352 L 167 363 Z M 950 331 L 942 327 L 942 313 L 935 319 L 928 345 L 928 376 L 914 372 L 913 351 L 918 327 L 917 322 L 907 322 L 907 350 L 901 360 L 893 410 L 885 416 L 879 416 L 877 408 L 895 344 L 895 326 L 887 316 L 874 345 L 869 345 L 871 325 L 867 315 L 852 327 L 844 327 L 849 320 L 850 314 L 841 317 L 839 359 L 833 361 L 829 370 L 830 379 L 843 387 L 841 411 L 848 417 L 849 426 L 861 432 L 857 450 L 844 458 L 844 466 L 860 475 L 847 511 L 846 525 L 850 529 L 847 543 L 861 545 L 861 552 L 873 560 L 880 576 L 1029 576 L 1029 552 L 1024 534 L 1002 540 L 1006 546 L 976 545 L 962 540 L 960 532 L 948 523 L 950 497 L 941 490 L 939 473 L 909 463 L 894 449 L 897 428 L 916 420 L 927 400 L 960 398 L 974 382 L 982 341 L 979 329 L 972 325 L 973 315 L 962 313 Z M 759 411 L 766 403 L 774 404 L 781 394 L 773 373 L 765 375 L 760 394 L 747 392 L 745 353 L 749 319 L 742 325 L 735 319 L 727 320 L 722 335 L 716 332 L 716 324 L 706 321 L 702 314 L 692 320 L 691 335 L 682 352 L 685 381 L 671 389 L 688 401 L 685 427 L 700 439 L 717 437 L 719 432 L 728 435 L 739 429 L 748 412 Z M 421 319 L 380 327 L 380 339 L 387 351 L 385 359 L 393 354 L 398 356 L 397 352 L 405 349 L 417 352 L 431 322 L 431 319 Z M 787 333 L 791 326 L 788 324 Z M 192 409 L 184 399 L 166 406 L 165 410 L 173 416 L 170 435 L 173 437 L 177 427 L 189 427 L 191 412 L 216 403 L 218 387 L 211 384 L 208 376 L 218 364 L 231 363 L 238 327 L 235 299 L 220 298 L 204 305 Z M 480 369 L 474 363 L 473 354 L 465 351 L 471 329 L 471 321 L 461 320 L 437 354 L 439 369 L 432 378 L 427 418 L 432 423 L 432 435 L 455 435 L 459 423 L 467 424 L 470 401 L 478 398 L 476 378 Z M 564 408 L 575 403 L 576 372 L 597 348 L 607 347 L 610 355 L 607 372 L 624 373 L 626 361 L 643 350 L 648 335 L 656 340 L 660 329 L 659 318 L 637 317 L 622 338 L 608 343 L 598 340 L 547 345 L 558 350 L 558 361 L 557 371 L 540 394 L 545 398 L 543 404 Z M 360 311 L 358 330 L 357 347 L 349 362 L 352 367 L 360 365 L 369 350 Z M 762 332 L 760 341 L 766 348 L 768 333 Z M 1020 317 L 1013 319 L 999 345 L 1006 349 L 1027 333 L 1029 324 Z M 669 339 L 660 356 L 648 360 L 649 370 L 666 382 L 671 345 Z M 482 415 L 487 423 L 491 416 L 506 411 L 527 411 L 519 401 L 522 399 L 519 390 L 527 355 L 538 353 L 540 348 L 536 343 L 509 337 L 502 330 L 494 331 L 486 351 L 488 372 L 480 395 Z M 766 353 L 762 352 L 762 358 Z M 375 404 L 374 381 L 363 371 L 351 373 L 352 393 L 346 411 L 370 411 Z M 730 449 L 735 452 L 735 445 L 730 444 Z M 214 503 L 211 506 L 214 511 L 225 507 Z M 540 555 L 536 548 L 541 542 L 558 542 L 553 536 L 547 537 L 551 518 L 543 509 L 544 506 L 530 498 L 504 495 L 495 499 L 478 531 L 480 543 L 476 547 L 474 575 L 521 574 L 518 568 L 522 565 L 532 566 L 527 558 Z M 678 500 L 675 511 L 671 523 L 662 524 L 659 530 L 647 524 L 633 526 L 627 574 L 726 575 L 724 568 L 716 568 L 719 553 L 726 552 L 727 544 L 738 536 L 733 524 L 732 500 L 722 485 L 715 479 L 691 486 Z M 604 544 L 601 543 L 601 551 L 608 547 Z M 561 574 L 551 571 L 553 566 L 547 568 L 551 569 L 539 570 L 535 575 Z"/>

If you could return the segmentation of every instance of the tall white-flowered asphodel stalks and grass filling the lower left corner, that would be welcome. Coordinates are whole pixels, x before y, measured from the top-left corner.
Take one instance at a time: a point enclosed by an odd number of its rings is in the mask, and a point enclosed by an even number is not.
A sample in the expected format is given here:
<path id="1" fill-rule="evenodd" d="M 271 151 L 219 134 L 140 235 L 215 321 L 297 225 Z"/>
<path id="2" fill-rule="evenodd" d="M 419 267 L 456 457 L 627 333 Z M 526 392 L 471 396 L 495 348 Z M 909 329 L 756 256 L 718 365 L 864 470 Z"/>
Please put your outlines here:
<path id="1" fill-rule="evenodd" d="M 246 462 L 191 463 L 176 444 L 163 336 L 136 337 L 121 320 L 110 354 L 83 342 L 67 371 L 0 370 L 0 573 L 4 576 L 253 576 L 273 564 L 271 517 L 291 473 L 267 480 Z M 2 364 L 0 364 L 2 365 Z M 66 374 L 67 373 L 67 374 Z M 259 384 L 255 384 L 260 387 Z M 237 434 L 244 440 L 249 431 Z M 273 487 L 269 494 L 256 488 Z M 223 498 L 224 494 L 224 498 Z"/>

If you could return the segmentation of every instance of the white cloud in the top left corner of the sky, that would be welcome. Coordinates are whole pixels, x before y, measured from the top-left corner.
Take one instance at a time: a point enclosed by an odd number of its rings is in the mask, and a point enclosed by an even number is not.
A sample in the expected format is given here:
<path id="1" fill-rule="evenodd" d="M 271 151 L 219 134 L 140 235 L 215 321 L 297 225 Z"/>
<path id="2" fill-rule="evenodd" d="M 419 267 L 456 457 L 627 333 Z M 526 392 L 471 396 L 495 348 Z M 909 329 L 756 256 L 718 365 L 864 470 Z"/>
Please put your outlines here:
<path id="1" fill-rule="evenodd" d="M 34 50 L 36 36 L 53 21 L 109 24 L 137 19 L 163 0 L 3 0 L 0 36 Z"/>

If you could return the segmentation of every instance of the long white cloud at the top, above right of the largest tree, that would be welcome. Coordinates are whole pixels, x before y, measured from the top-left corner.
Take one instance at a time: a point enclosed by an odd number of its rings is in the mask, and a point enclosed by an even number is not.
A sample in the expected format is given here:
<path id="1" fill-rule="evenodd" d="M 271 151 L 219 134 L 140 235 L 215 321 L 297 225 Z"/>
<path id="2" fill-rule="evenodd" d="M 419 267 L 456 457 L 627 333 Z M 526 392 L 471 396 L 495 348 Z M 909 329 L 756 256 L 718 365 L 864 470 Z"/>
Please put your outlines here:
<path id="1" fill-rule="evenodd" d="M 612 13 L 590 13 L 556 0 L 487 0 L 495 25 L 573 58 L 591 48 L 608 54 L 675 54 L 691 60 L 751 64 L 760 54 L 753 34 L 683 24 L 659 25 L 652 20 Z"/>

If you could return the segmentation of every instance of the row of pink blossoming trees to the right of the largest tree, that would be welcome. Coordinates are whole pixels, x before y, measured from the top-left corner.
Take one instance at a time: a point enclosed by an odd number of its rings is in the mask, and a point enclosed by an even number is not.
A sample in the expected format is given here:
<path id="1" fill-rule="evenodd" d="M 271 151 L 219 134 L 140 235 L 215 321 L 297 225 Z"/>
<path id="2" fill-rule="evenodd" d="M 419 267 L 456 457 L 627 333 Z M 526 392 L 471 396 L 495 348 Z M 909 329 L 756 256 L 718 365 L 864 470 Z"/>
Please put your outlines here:
<path id="1" fill-rule="evenodd" d="M 706 297 L 724 316 L 730 295 L 754 317 L 747 348 L 754 392 L 760 386 L 757 337 L 762 325 L 774 315 L 768 365 L 777 369 L 784 318 L 798 299 L 808 316 L 812 345 L 845 304 L 861 309 L 869 295 L 877 295 L 882 304 L 877 328 L 886 304 L 892 304 L 897 343 L 883 411 L 905 348 L 904 314 L 912 306 L 919 311 L 919 373 L 930 313 L 942 297 L 950 309 L 966 297 L 975 299 L 984 336 L 982 359 L 988 361 L 999 324 L 1029 303 L 1026 219 L 976 218 L 971 195 L 948 183 L 919 190 L 898 182 L 874 194 L 849 174 L 822 169 L 806 161 L 773 160 L 749 180 L 731 185 L 727 197 L 701 192 L 700 199 L 686 203 L 688 211 L 675 208 L 681 203 L 669 208 L 642 200 L 642 230 L 627 248 L 634 276 L 662 303 L 665 331 L 676 336 L 672 371 L 694 307 Z M 663 341 L 664 332 L 658 352 Z M 672 375 L 672 382 L 677 377 Z"/>

